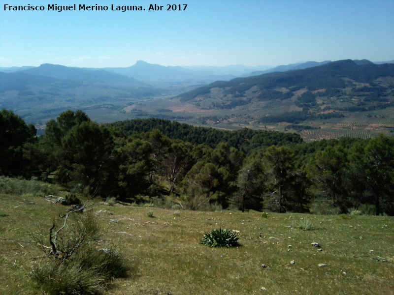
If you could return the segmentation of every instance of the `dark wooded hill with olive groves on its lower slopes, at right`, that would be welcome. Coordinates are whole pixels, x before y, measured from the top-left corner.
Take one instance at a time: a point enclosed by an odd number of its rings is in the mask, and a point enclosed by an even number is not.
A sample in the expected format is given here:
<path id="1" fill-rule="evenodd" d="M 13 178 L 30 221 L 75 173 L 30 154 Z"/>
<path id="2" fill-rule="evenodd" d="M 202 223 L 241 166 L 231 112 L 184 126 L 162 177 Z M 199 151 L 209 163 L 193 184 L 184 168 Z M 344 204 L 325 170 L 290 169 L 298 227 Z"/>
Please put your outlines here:
<path id="1" fill-rule="evenodd" d="M 348 59 L 217 81 L 177 99 L 214 113 L 199 122 L 216 127 L 289 130 L 309 141 L 366 138 L 394 131 L 393 82 L 394 64 Z"/>

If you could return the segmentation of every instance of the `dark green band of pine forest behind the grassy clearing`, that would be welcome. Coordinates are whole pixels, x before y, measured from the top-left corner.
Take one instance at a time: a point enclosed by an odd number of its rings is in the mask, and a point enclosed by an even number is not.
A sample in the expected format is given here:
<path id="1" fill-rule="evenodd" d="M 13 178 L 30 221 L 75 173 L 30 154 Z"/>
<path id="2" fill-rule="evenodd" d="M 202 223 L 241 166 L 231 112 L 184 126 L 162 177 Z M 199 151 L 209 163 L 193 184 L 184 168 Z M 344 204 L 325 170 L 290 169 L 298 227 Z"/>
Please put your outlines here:
<path id="1" fill-rule="evenodd" d="M 0 112 L 0 175 L 193 210 L 394 215 L 394 139 L 385 135 L 303 143 L 295 134 L 160 119 L 100 125 L 70 110 L 34 135 L 12 111 Z"/>

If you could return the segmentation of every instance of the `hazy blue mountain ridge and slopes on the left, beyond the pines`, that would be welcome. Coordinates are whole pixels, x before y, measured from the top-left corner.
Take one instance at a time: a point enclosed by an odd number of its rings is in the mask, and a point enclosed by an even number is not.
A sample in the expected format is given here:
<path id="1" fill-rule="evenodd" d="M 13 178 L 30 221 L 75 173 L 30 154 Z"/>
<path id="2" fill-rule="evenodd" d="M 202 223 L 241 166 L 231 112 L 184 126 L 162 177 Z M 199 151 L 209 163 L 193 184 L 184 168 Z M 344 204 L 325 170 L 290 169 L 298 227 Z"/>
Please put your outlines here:
<path id="1" fill-rule="evenodd" d="M 115 117 L 114 113 L 119 118 L 119 111 L 132 102 L 171 94 L 174 92 L 170 89 L 102 69 L 42 64 L 0 72 L 0 109 L 14 110 L 38 125 L 66 109 L 99 113 L 104 121 L 108 116 Z"/>

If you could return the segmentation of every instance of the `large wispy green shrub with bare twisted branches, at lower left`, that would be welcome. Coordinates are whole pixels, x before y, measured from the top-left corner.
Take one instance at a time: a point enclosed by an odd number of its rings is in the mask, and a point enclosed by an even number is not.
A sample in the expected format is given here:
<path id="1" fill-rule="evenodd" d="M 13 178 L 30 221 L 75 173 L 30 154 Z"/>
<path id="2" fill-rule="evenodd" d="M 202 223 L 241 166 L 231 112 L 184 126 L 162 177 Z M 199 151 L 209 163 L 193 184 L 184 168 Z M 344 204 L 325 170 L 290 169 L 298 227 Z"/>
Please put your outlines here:
<path id="1" fill-rule="evenodd" d="M 114 278 L 127 276 L 130 267 L 117 246 L 99 249 L 101 234 L 92 212 L 69 212 L 64 218 L 63 226 L 57 228 L 53 224 L 50 229 L 50 247 L 43 237 L 47 234 L 33 235 L 46 258 L 29 273 L 31 291 L 46 295 L 96 295 Z"/>

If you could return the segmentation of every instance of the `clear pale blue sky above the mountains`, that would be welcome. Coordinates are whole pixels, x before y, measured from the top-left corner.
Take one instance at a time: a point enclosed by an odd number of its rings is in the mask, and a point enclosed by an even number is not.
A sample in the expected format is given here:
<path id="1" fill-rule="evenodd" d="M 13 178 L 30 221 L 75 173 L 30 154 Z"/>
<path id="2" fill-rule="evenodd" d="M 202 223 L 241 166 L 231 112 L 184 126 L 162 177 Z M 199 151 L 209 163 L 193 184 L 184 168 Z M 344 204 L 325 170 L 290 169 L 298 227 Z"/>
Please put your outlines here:
<path id="1" fill-rule="evenodd" d="M 61 3 L 59 3 L 61 2 Z M 394 0 L 0 0 L 0 66 L 276 66 L 394 59 Z M 107 11 L 48 11 L 48 4 Z M 149 4 L 163 5 L 148 11 Z M 166 4 L 187 4 L 167 11 Z M 45 11 L 4 11 L 43 5 Z M 145 11 L 111 11 L 111 5 Z"/>

